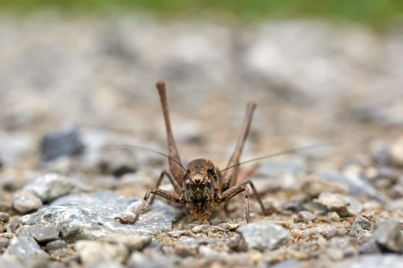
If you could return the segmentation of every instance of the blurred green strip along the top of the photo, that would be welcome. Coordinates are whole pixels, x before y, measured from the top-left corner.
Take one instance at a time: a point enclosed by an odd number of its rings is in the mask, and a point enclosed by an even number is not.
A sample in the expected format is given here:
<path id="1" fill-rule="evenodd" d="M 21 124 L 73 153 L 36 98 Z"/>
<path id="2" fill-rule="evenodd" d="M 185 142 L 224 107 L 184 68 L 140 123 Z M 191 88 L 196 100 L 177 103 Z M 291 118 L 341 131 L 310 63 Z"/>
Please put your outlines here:
<path id="1" fill-rule="evenodd" d="M 161 17 L 204 13 L 228 19 L 259 21 L 290 17 L 324 17 L 382 28 L 402 20 L 401 0 L 3 0 L 3 11 L 53 9 L 66 13 L 141 11 Z"/>

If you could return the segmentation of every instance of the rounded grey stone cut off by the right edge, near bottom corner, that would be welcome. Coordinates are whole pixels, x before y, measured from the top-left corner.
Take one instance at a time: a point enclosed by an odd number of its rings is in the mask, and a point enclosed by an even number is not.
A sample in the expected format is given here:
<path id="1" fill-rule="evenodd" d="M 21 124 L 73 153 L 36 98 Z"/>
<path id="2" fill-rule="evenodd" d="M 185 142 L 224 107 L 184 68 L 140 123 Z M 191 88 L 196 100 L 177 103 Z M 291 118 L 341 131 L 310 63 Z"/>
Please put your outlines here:
<path id="1" fill-rule="evenodd" d="M 381 249 L 403 253 L 403 233 L 397 220 L 379 223 L 374 231 L 374 239 Z"/>

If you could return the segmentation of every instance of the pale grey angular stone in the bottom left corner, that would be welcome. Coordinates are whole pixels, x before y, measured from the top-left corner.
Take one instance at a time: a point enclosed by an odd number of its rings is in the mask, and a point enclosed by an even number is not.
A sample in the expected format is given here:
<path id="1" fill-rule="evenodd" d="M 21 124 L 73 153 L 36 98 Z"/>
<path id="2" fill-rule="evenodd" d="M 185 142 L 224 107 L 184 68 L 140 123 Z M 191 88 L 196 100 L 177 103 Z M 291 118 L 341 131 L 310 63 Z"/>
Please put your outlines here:
<path id="1" fill-rule="evenodd" d="M 49 258 L 49 255 L 31 237 L 13 237 L 4 254 L 17 255 L 22 260 L 34 257 Z"/>

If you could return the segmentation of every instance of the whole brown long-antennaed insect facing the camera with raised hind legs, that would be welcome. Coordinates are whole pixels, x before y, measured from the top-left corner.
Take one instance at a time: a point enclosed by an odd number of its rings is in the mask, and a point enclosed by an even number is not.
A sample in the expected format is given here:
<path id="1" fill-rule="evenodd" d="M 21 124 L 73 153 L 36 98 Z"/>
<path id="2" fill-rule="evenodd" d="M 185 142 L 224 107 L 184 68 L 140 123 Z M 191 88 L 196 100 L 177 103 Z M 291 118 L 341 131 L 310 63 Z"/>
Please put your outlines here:
<path id="1" fill-rule="evenodd" d="M 158 81 L 157 88 L 167 129 L 169 155 L 165 155 L 156 151 L 155 152 L 168 157 L 169 169 L 163 170 L 158 178 L 156 186 L 149 189 L 145 193 L 143 201 L 138 208 L 135 217 L 132 220 L 127 221 L 120 217 L 116 217 L 115 220 L 119 220 L 121 224 L 135 224 L 139 219 L 146 202 L 150 199 L 150 204 L 152 204 L 155 195 L 159 195 L 162 198 L 168 199 L 170 201 L 186 205 L 189 212 L 194 216 L 196 221 L 199 221 L 200 218 L 201 221 L 204 221 L 210 217 L 210 210 L 215 204 L 227 202 L 235 195 L 244 192 L 245 220 L 249 223 L 251 222 L 251 220 L 249 213 L 248 185 L 250 185 L 250 187 L 252 188 L 262 208 L 263 214 L 268 215 L 271 211 L 265 208 L 259 192 L 254 187 L 249 178 L 247 178 L 248 174 L 250 174 L 253 170 L 246 170 L 246 172 L 242 172 L 242 174 L 239 175 L 239 166 L 241 164 L 245 164 L 254 160 L 260 160 L 276 155 L 295 153 L 301 149 L 312 147 L 291 149 L 278 154 L 263 156 L 240 163 L 240 156 L 245 144 L 245 140 L 249 133 L 253 112 L 256 108 L 256 103 L 253 101 L 249 101 L 247 104 L 246 115 L 241 128 L 241 133 L 236 143 L 235 150 L 228 162 L 227 168 L 219 171 L 214 166 L 214 163 L 211 160 L 205 158 L 192 160 L 185 168 L 180 164 L 179 154 L 176 149 L 175 141 L 172 135 L 165 83 L 163 81 Z M 169 181 L 173 185 L 175 192 L 158 189 L 164 175 L 169 178 Z M 150 198 L 151 194 L 154 195 Z M 228 203 L 226 203 L 226 205 L 227 204 Z M 227 206 L 225 206 L 224 208 L 227 210 Z"/>

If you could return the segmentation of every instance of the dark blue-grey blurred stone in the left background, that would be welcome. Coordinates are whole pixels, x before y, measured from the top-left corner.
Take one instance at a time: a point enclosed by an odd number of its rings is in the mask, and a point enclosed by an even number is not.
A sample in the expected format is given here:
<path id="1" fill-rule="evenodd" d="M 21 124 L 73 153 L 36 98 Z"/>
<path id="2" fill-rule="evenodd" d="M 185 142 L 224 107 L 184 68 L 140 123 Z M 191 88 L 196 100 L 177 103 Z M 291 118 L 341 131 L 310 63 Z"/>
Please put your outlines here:
<path id="1" fill-rule="evenodd" d="M 41 142 L 41 158 L 50 161 L 59 156 L 79 155 L 84 151 L 80 133 L 76 128 L 68 128 L 46 134 Z"/>

